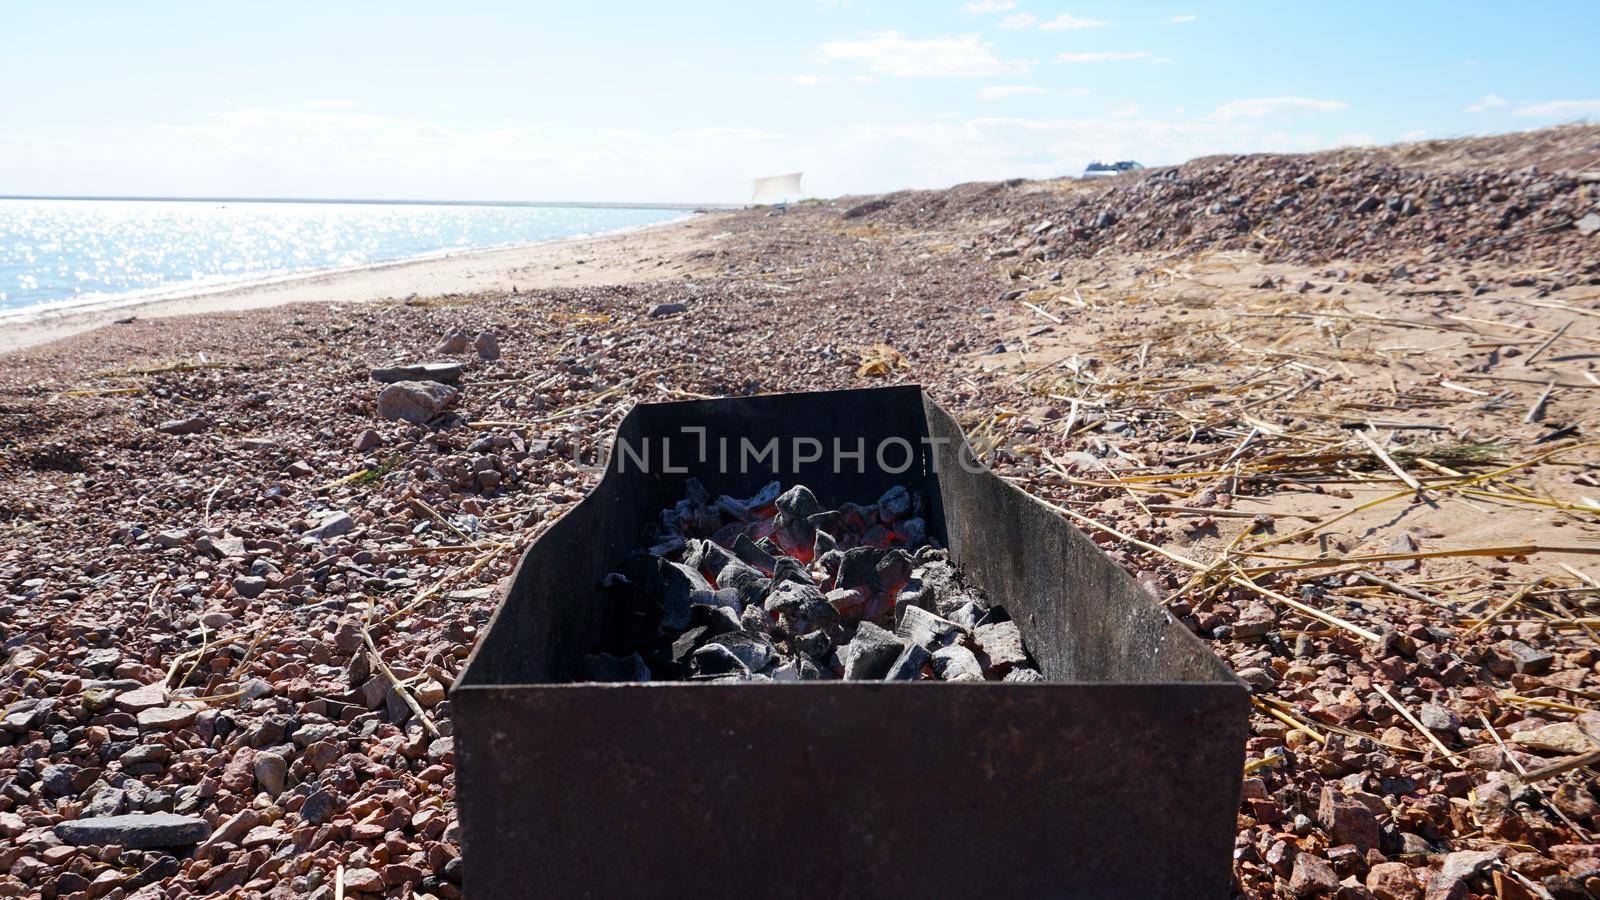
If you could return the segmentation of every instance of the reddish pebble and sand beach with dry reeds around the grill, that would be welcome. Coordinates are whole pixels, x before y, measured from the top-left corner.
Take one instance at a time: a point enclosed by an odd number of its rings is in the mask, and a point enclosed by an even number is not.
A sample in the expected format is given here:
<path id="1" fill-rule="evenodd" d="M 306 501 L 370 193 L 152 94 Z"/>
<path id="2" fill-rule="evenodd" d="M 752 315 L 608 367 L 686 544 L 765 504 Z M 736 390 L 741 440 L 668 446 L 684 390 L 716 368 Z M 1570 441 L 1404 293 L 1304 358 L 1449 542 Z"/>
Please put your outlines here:
<path id="1" fill-rule="evenodd" d="M 1251 687 L 1238 895 L 1600 897 L 1597 127 L 710 213 L 0 341 L 3 897 L 459 897 L 446 690 L 621 415 L 894 383 Z"/>

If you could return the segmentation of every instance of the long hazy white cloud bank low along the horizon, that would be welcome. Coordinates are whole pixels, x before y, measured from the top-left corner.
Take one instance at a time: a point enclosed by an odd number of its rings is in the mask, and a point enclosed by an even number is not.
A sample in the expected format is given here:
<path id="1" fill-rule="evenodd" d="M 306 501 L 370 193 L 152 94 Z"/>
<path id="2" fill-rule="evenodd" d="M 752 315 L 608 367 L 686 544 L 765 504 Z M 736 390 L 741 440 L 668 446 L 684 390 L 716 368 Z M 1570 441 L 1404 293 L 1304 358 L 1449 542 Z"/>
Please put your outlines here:
<path id="1" fill-rule="evenodd" d="M 738 202 L 747 197 L 747 178 L 773 171 L 805 170 L 806 191 L 826 197 L 1075 175 L 1101 157 L 1157 165 L 1331 144 L 1328 133 L 1208 115 L 955 115 L 771 128 L 746 127 L 741 117 L 720 125 L 675 131 L 474 125 L 234 106 L 165 125 L 86 125 L 26 138 L 0 130 L 0 159 L 6 184 L 26 194 Z"/>

